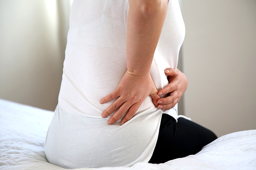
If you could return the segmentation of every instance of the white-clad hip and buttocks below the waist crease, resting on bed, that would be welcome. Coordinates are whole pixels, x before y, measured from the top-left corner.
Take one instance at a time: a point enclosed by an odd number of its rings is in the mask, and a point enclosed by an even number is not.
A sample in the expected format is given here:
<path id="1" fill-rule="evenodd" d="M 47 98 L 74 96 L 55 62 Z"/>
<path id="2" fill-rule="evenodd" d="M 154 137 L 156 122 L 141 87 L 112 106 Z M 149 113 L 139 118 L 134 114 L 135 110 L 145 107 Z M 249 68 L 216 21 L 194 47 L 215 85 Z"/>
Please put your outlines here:
<path id="1" fill-rule="evenodd" d="M 45 143 L 47 159 L 66 168 L 131 166 L 148 161 L 161 115 L 160 110 L 145 112 L 120 126 L 57 107 Z"/>

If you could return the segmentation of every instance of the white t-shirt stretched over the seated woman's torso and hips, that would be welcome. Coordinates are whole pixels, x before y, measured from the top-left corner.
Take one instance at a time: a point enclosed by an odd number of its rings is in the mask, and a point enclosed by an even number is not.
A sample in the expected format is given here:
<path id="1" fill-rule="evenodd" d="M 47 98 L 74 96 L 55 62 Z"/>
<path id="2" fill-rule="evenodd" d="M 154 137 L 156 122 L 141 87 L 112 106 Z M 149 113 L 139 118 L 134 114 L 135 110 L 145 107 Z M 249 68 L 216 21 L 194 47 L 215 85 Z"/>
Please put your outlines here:
<path id="1" fill-rule="evenodd" d="M 148 96 L 134 117 L 107 125 L 100 104 L 118 86 L 126 68 L 128 0 L 74 0 L 70 13 L 61 90 L 49 127 L 45 153 L 65 168 L 132 166 L 152 156 L 162 113 L 177 119 L 177 105 L 161 111 Z M 178 0 L 170 0 L 151 65 L 158 90 L 168 84 L 164 70 L 177 68 L 185 26 Z"/>

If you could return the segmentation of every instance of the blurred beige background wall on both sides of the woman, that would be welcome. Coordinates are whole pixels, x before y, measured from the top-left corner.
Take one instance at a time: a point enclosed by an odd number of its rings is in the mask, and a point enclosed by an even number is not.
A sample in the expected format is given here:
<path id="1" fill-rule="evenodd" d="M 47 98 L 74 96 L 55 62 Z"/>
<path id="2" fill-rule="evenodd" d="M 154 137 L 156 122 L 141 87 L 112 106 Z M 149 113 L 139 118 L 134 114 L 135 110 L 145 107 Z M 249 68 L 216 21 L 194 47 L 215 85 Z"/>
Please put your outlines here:
<path id="1" fill-rule="evenodd" d="M 218 136 L 256 129 L 256 1 L 181 5 L 184 113 Z M 68 0 L 0 0 L 0 98 L 55 109 L 69 10 Z"/>

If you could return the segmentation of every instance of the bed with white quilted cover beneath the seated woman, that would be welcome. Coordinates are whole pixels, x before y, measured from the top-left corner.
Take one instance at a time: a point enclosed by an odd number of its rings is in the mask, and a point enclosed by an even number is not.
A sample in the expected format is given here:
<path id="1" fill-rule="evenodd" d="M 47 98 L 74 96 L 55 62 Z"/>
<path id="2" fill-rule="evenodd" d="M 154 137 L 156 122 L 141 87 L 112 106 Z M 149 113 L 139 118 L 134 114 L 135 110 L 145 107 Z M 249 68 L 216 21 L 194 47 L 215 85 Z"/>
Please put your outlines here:
<path id="1" fill-rule="evenodd" d="M 47 162 L 44 141 L 53 112 L 0 99 L 0 170 L 65 170 Z M 79 170 L 256 170 L 256 130 L 219 137 L 196 155 L 164 164 Z"/>

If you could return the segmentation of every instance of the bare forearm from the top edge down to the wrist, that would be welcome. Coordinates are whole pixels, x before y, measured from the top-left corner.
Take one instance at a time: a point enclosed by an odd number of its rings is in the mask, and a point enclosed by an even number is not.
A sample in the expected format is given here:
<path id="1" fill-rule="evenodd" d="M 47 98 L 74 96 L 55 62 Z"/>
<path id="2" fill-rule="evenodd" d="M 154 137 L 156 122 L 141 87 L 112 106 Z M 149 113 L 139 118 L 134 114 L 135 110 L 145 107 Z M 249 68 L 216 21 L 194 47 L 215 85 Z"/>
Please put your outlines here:
<path id="1" fill-rule="evenodd" d="M 129 0 L 126 52 L 128 74 L 150 71 L 168 0 Z"/>

